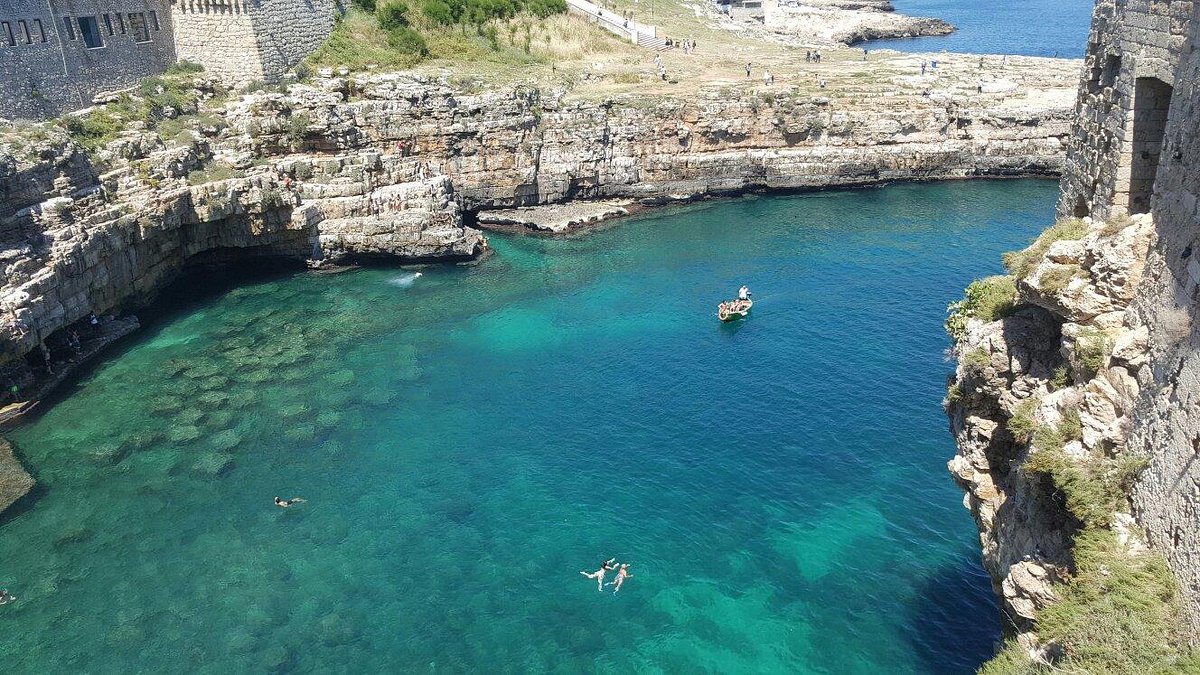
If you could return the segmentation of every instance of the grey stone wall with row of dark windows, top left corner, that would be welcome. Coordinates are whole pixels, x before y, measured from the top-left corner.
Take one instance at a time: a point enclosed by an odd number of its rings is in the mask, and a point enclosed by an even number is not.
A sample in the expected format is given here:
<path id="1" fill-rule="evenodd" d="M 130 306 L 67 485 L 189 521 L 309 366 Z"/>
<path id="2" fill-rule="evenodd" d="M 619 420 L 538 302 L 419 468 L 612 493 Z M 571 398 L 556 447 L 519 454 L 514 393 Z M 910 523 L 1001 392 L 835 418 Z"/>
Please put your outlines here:
<path id="1" fill-rule="evenodd" d="M 80 19 L 95 19 L 91 47 Z M 83 108 L 175 61 L 167 0 L 7 0 L 0 22 L 2 118 Z"/>

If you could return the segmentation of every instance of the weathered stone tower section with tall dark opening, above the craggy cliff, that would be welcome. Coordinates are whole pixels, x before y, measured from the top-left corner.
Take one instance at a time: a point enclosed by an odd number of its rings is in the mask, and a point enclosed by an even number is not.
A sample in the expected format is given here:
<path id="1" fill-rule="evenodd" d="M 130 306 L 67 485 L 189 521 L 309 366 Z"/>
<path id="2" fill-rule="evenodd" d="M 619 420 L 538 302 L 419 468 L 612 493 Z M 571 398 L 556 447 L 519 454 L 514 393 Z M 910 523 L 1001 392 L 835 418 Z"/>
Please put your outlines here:
<path id="1" fill-rule="evenodd" d="M 1146 213 L 1193 2 L 1099 0 L 1058 213 Z"/>

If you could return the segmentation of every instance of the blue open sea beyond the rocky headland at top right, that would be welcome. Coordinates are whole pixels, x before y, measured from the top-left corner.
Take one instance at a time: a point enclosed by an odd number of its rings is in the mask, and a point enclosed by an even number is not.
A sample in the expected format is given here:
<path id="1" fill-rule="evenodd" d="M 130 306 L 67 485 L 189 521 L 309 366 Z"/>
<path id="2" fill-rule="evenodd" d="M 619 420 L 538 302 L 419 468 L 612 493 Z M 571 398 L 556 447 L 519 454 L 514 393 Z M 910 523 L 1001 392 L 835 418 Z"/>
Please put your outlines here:
<path id="1" fill-rule="evenodd" d="M 1093 0 L 893 0 L 896 11 L 946 19 L 950 35 L 875 40 L 868 47 L 900 52 L 1022 54 L 1080 59 L 1087 47 Z"/>

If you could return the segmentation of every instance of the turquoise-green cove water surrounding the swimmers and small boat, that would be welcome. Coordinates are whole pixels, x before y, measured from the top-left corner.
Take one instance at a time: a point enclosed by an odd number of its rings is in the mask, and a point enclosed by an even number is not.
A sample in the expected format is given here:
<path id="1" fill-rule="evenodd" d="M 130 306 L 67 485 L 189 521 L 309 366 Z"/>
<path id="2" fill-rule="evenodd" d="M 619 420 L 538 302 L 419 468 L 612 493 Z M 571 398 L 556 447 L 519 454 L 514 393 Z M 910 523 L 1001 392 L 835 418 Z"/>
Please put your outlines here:
<path id="1" fill-rule="evenodd" d="M 44 491 L 0 526 L 0 662 L 972 671 L 941 322 L 1056 190 L 748 198 L 196 300 L 13 434 Z M 578 574 L 608 556 L 618 596 Z"/>

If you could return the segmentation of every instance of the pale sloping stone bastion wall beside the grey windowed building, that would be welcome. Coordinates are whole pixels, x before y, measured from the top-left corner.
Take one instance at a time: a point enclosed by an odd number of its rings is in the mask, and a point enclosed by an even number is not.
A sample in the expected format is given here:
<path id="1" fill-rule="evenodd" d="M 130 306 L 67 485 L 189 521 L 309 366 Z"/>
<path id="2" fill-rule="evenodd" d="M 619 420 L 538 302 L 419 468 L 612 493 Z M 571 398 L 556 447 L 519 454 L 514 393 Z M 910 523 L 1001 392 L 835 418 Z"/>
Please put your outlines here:
<path id="1" fill-rule="evenodd" d="M 340 12 L 337 0 L 174 0 L 175 48 L 228 84 L 277 82 Z"/>

